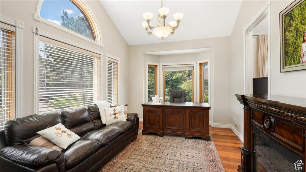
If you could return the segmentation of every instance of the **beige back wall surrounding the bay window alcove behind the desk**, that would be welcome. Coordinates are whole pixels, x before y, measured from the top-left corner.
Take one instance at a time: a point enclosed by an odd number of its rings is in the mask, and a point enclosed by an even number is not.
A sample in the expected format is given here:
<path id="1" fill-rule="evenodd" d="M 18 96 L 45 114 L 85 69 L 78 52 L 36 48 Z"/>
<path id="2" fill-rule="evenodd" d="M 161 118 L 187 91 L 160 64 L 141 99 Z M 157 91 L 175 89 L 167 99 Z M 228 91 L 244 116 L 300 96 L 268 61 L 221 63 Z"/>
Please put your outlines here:
<path id="1" fill-rule="evenodd" d="M 213 50 L 207 51 L 212 54 L 211 72 L 214 74 L 214 117 L 210 119 L 214 123 L 230 124 L 230 37 L 209 38 L 209 39 L 195 39 L 186 41 L 175 41 L 166 43 L 153 43 L 143 45 L 129 46 L 129 111 L 136 112 L 140 118 L 143 118 L 143 109 L 141 104 L 144 103 L 144 78 L 145 78 L 145 63 L 146 55 L 143 52 L 152 51 L 167 51 L 167 50 L 181 50 L 194 48 L 213 47 Z M 180 54 L 176 59 L 173 55 L 169 55 L 167 59 L 159 58 L 160 62 L 184 62 L 197 61 L 200 58 L 208 57 L 208 54 L 197 53 L 191 55 L 189 59 L 188 54 Z M 190 57 L 191 57 L 190 56 Z M 192 60 L 191 60 L 192 59 Z"/>

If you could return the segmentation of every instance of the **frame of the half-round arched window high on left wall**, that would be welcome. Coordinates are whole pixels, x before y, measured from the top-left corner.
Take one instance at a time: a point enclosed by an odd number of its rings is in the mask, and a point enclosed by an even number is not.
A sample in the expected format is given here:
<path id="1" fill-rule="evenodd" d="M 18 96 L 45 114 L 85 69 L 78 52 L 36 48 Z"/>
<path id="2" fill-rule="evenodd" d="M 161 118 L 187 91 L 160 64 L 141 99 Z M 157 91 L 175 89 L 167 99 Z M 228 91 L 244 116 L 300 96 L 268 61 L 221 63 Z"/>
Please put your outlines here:
<path id="1" fill-rule="evenodd" d="M 60 29 L 64 32 L 67 32 L 67 33 L 71 34 L 71 35 L 77 36 L 77 37 L 79 37 L 81 39 L 84 39 L 88 42 L 94 43 L 94 44 L 96 44 L 96 45 L 98 45 L 102 48 L 104 47 L 100 25 L 98 24 L 98 21 L 95 20 L 96 19 L 95 14 L 92 13 L 92 10 L 89 8 L 89 6 L 86 4 L 86 2 L 80 1 L 80 0 L 71 0 L 73 3 L 75 3 L 86 14 L 86 17 L 88 18 L 88 21 L 90 22 L 91 28 L 94 32 L 95 40 L 89 39 L 86 36 L 83 36 L 81 34 L 73 32 L 70 29 L 67 29 L 67 28 L 65 28 L 61 25 L 55 24 L 52 21 L 48 21 L 47 19 L 41 17 L 40 16 L 40 9 L 41 9 L 41 6 L 43 4 L 43 1 L 44 0 L 39 0 L 38 3 L 37 3 L 36 13 L 34 13 L 34 15 L 33 15 L 34 20 L 39 21 L 39 22 L 43 22 L 45 24 L 48 24 L 48 25 L 53 26 L 55 28 L 58 28 L 58 29 Z"/>

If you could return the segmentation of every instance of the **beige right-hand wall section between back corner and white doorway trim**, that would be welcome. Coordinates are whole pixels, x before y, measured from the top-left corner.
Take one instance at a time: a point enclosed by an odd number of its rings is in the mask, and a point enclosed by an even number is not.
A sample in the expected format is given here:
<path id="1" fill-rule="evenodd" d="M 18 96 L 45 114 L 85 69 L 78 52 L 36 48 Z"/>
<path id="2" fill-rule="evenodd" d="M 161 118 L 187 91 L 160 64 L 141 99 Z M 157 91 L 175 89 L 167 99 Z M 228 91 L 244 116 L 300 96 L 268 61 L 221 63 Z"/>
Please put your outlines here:
<path id="1" fill-rule="evenodd" d="M 238 132 L 243 135 L 243 106 L 238 102 L 235 94 L 243 94 L 243 32 L 249 21 L 255 16 L 266 1 L 242 1 L 236 23 L 230 37 L 231 44 L 231 116 L 238 124 Z"/>

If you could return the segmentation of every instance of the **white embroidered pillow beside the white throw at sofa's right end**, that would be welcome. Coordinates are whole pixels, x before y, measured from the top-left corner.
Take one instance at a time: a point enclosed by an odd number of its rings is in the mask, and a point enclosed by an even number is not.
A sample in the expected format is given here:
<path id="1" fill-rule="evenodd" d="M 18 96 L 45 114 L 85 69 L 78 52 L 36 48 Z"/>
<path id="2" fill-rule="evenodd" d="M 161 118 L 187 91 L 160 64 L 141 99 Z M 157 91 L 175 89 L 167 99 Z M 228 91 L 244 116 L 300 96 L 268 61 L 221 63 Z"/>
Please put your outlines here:
<path id="1" fill-rule="evenodd" d="M 126 121 L 124 115 L 123 105 L 105 108 L 105 115 L 106 115 L 106 125 L 114 124 L 116 122 L 124 122 Z"/>

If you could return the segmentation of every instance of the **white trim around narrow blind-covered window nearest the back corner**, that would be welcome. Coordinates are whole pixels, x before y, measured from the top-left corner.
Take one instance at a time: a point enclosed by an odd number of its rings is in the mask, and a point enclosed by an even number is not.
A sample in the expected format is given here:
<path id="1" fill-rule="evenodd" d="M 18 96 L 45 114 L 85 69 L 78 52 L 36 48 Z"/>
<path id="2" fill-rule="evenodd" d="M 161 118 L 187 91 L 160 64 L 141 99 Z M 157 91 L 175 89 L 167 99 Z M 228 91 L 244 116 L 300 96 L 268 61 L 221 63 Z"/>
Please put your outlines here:
<path id="1" fill-rule="evenodd" d="M 107 54 L 106 53 L 106 58 L 105 58 L 105 100 L 107 101 L 107 62 L 108 60 L 112 61 L 112 62 L 116 62 L 118 63 L 118 81 L 117 81 L 117 105 L 119 105 L 119 96 L 120 96 L 120 92 L 119 92 L 119 87 L 120 87 L 120 58 L 115 57 L 113 55 Z"/>

